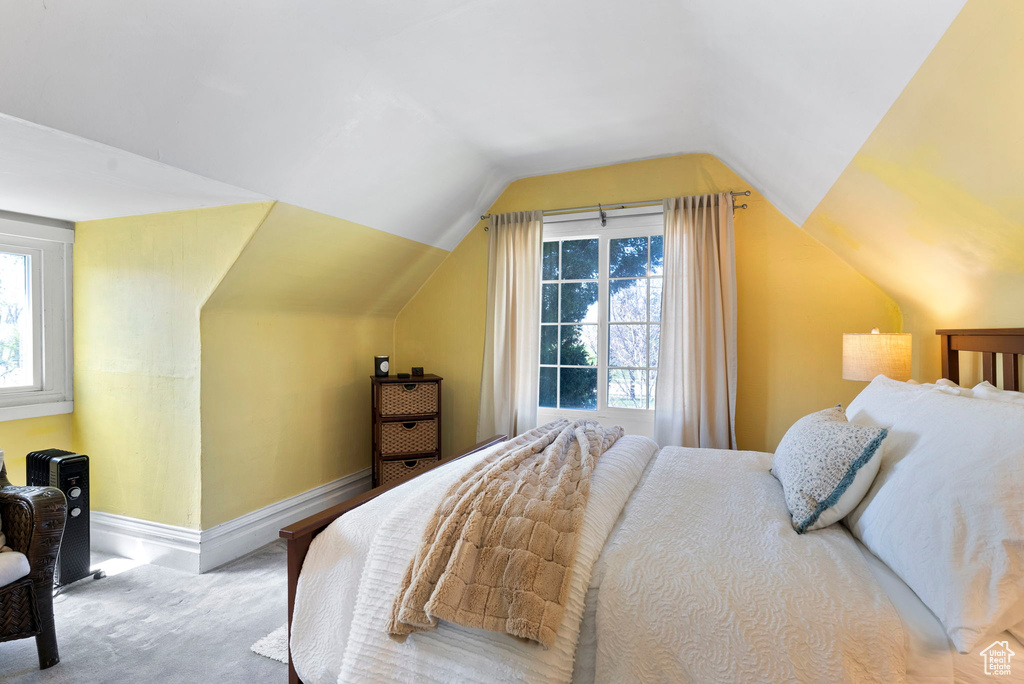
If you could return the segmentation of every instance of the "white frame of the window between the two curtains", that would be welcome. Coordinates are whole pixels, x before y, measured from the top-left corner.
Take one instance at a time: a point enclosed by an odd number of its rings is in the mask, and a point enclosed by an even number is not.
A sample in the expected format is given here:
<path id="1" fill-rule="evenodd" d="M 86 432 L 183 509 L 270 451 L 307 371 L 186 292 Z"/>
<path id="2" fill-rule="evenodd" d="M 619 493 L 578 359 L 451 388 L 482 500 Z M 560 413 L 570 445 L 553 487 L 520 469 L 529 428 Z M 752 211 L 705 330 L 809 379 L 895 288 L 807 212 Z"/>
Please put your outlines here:
<path id="1" fill-rule="evenodd" d="M 597 411 L 538 407 L 538 424 L 558 418 L 589 418 L 607 425 L 622 425 L 630 434 L 654 434 L 653 409 L 625 409 L 607 405 L 608 393 L 608 241 L 662 234 L 665 214 L 660 207 L 635 207 L 606 211 L 606 225 L 598 212 L 562 214 L 544 217 L 543 240 L 598 239 L 598 319 L 597 319 Z M 559 273 L 560 275 L 561 273 Z M 561 338 L 559 337 L 559 340 Z M 540 372 L 540 367 L 538 367 Z"/>

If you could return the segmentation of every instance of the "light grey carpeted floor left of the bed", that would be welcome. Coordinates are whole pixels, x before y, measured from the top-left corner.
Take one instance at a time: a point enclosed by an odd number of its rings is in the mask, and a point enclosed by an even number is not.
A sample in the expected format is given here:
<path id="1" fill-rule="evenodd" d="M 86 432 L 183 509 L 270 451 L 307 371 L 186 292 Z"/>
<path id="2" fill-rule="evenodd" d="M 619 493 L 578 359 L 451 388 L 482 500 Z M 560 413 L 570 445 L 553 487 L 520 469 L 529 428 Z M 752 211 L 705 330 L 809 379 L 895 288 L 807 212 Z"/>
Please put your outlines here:
<path id="1" fill-rule="evenodd" d="M 40 672 L 33 639 L 0 643 L 0 682 L 285 682 L 287 666 L 249 646 L 287 605 L 283 542 L 206 574 L 139 565 L 86 579 L 54 599 L 59 665 Z"/>

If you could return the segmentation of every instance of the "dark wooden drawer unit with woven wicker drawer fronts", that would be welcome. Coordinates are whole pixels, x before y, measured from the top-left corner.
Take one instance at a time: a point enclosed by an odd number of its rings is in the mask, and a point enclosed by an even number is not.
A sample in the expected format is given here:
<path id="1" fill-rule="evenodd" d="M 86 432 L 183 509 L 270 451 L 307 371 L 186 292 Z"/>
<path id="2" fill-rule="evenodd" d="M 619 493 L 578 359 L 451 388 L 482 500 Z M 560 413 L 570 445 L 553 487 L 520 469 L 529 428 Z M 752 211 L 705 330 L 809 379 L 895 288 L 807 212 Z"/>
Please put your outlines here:
<path id="1" fill-rule="evenodd" d="M 374 486 L 415 477 L 441 458 L 441 379 L 371 377 Z"/>

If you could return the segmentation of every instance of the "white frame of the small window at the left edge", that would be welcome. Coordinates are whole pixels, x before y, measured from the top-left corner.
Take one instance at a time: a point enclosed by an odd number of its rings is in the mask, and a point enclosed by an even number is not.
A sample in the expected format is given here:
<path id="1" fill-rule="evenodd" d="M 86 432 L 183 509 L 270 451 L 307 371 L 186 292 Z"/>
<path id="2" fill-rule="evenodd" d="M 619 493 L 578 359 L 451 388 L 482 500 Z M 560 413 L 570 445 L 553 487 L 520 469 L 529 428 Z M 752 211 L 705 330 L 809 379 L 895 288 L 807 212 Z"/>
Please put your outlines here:
<path id="1" fill-rule="evenodd" d="M 0 422 L 70 414 L 72 223 L 0 211 L 0 251 L 32 257 L 34 385 L 0 389 Z"/>

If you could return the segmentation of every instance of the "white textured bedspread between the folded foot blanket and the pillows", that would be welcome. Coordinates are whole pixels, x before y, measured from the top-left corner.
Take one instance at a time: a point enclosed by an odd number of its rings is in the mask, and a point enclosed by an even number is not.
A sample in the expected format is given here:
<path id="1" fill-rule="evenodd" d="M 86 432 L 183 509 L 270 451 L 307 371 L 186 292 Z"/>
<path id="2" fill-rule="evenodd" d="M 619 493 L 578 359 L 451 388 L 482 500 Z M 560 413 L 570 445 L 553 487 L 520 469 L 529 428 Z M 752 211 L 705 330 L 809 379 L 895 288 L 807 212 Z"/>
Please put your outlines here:
<path id="1" fill-rule="evenodd" d="M 902 624 L 856 543 L 798 536 L 770 458 L 662 451 L 595 568 L 596 657 L 578 679 L 905 679 Z"/>

